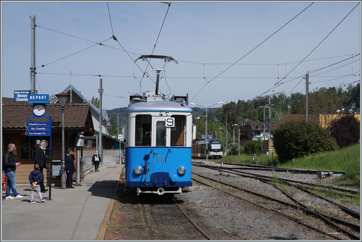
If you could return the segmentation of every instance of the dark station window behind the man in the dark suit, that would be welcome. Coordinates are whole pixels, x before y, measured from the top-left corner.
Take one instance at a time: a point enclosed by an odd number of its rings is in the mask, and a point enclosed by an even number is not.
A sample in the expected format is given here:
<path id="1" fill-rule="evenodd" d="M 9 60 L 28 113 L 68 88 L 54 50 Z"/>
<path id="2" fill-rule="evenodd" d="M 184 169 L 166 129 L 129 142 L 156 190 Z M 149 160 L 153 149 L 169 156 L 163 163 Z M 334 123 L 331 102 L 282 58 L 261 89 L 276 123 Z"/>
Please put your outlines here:
<path id="1" fill-rule="evenodd" d="M 33 159 L 34 151 L 39 147 L 40 141 L 46 142 L 45 158 L 49 159 L 49 136 L 21 135 L 20 159 Z"/>

